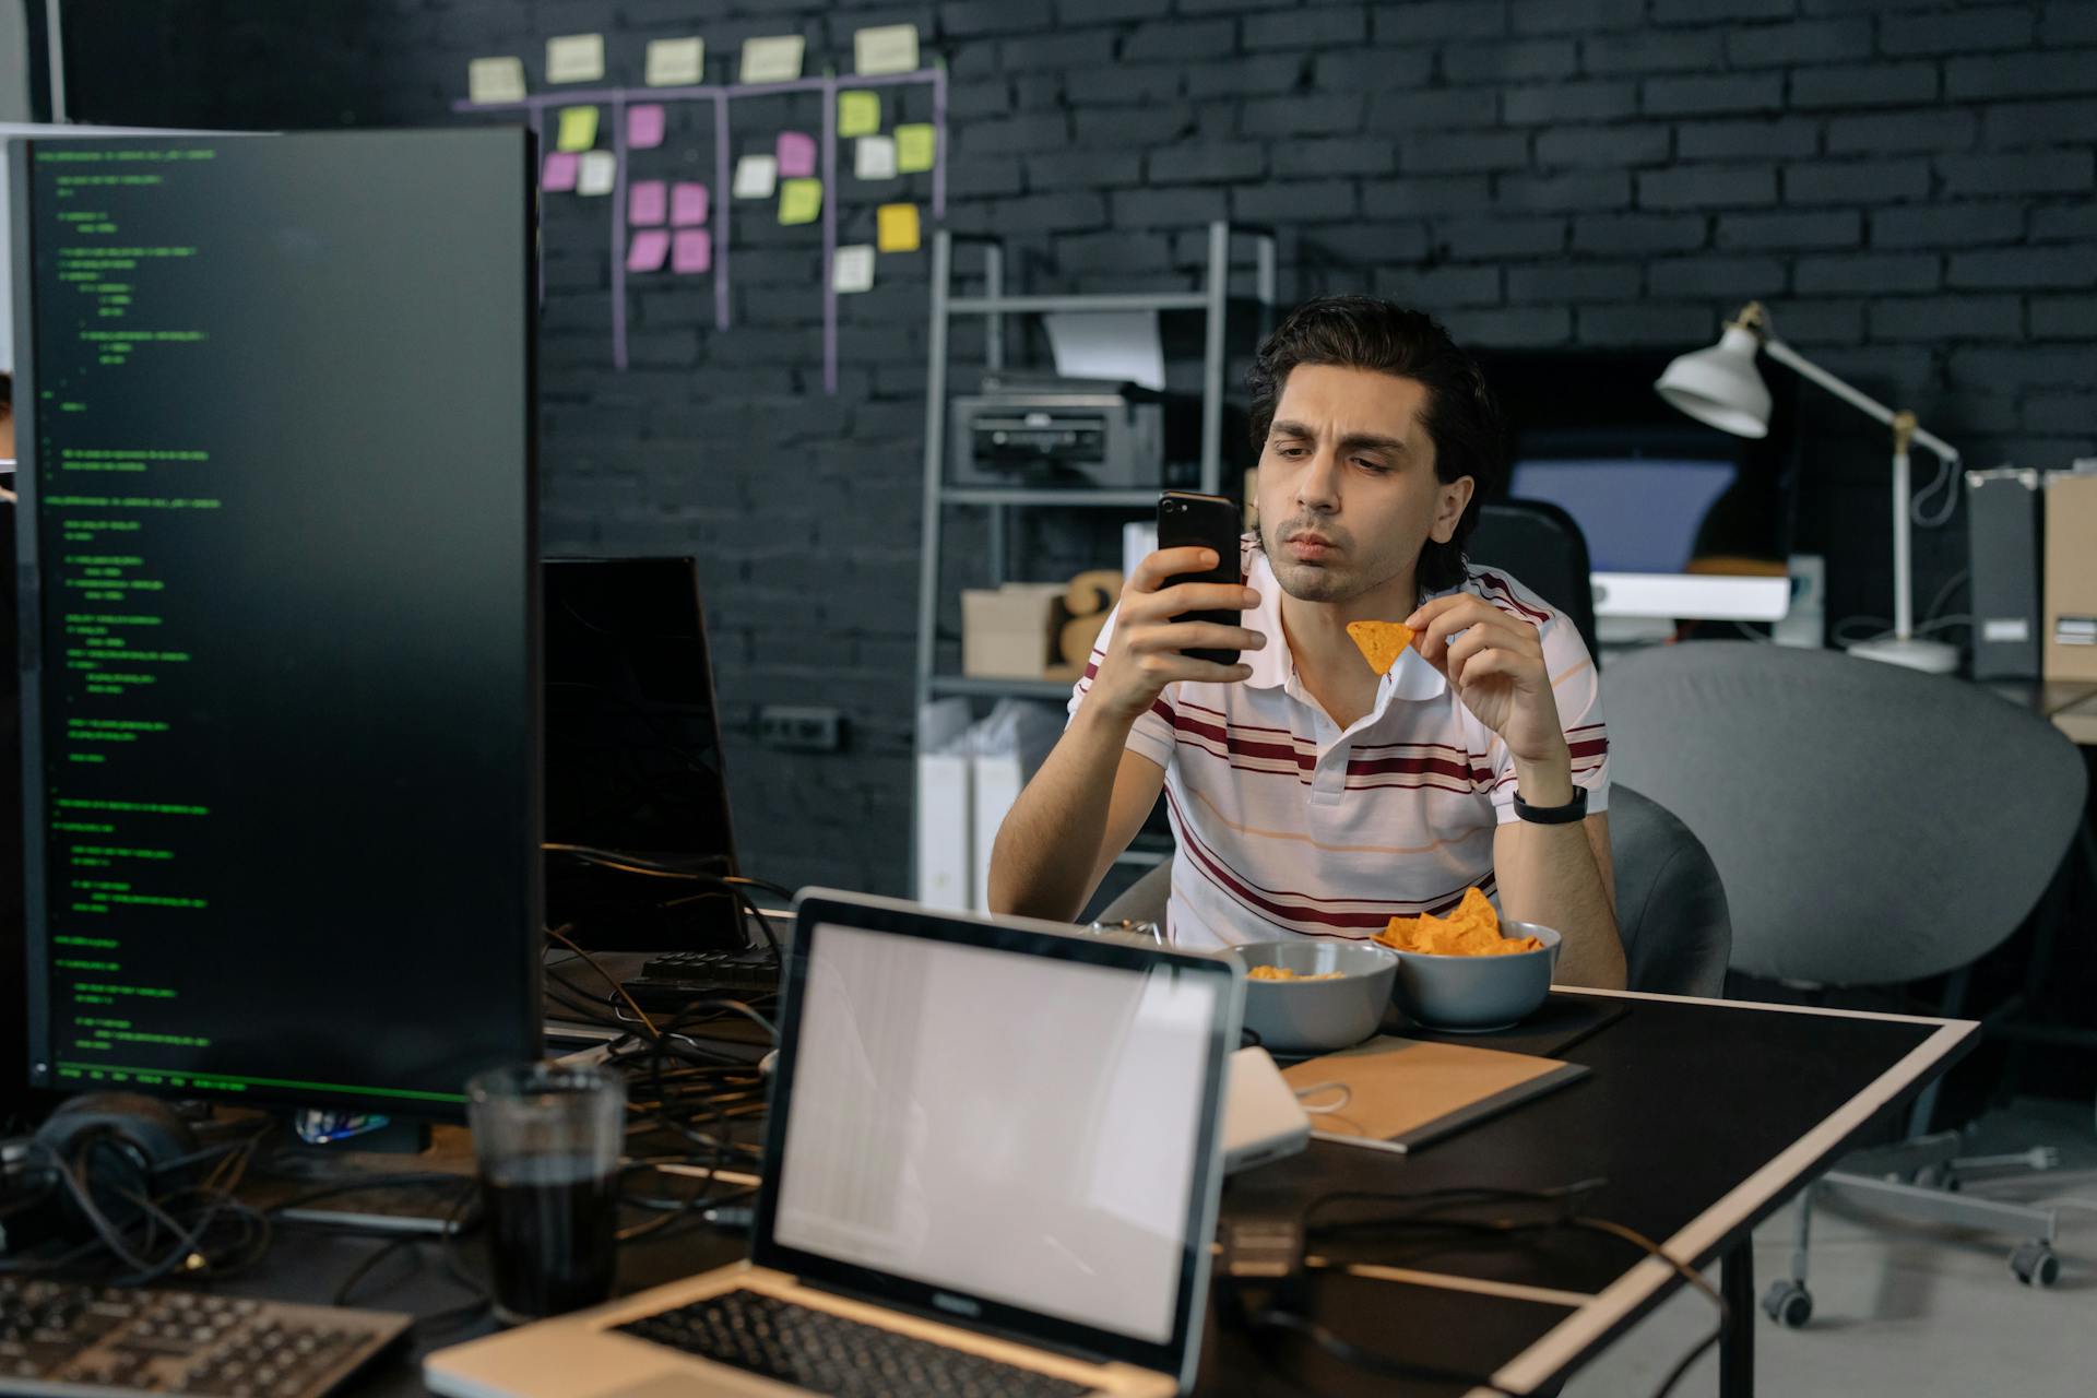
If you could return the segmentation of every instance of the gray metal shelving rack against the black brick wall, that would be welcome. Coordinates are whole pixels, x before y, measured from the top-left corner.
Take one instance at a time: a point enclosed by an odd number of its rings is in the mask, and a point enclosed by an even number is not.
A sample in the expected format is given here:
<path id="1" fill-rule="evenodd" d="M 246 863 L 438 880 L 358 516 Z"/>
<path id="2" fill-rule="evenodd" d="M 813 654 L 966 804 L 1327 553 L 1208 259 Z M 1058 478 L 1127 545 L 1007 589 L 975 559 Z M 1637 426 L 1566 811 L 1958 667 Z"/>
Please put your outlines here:
<path id="1" fill-rule="evenodd" d="M 1199 488 L 1220 495 L 1223 486 L 1223 363 L 1225 314 L 1231 300 L 1231 241 L 1254 245 L 1254 300 L 1260 306 L 1262 333 L 1275 306 L 1275 237 L 1264 228 L 1208 224 L 1208 268 L 1199 291 L 1111 293 L 1111 296 L 1007 296 L 1004 252 L 994 239 L 956 239 L 948 231 L 933 235 L 931 245 L 931 335 L 925 371 L 925 524 L 918 551 L 918 648 L 914 711 L 944 694 L 1021 696 L 1059 700 L 1069 685 L 1055 679 L 973 679 L 935 673 L 939 641 L 939 558 L 948 505 L 986 505 L 990 509 L 988 562 L 992 581 L 1004 578 L 1007 509 L 1028 507 L 1093 507 L 1132 509 L 1155 503 L 1158 490 L 1042 490 L 946 484 L 948 423 L 948 331 L 954 316 L 988 321 L 986 367 L 1004 367 L 1004 316 L 1042 314 L 1055 310 L 1199 310 L 1202 323 L 1202 480 Z M 983 296 L 954 296 L 954 243 L 967 241 L 983 249 Z M 912 807 L 916 803 L 912 801 Z M 914 826 L 912 826 L 914 845 Z M 1155 861 L 1155 859 L 1147 859 Z M 912 851 L 912 868 L 914 851 Z"/>

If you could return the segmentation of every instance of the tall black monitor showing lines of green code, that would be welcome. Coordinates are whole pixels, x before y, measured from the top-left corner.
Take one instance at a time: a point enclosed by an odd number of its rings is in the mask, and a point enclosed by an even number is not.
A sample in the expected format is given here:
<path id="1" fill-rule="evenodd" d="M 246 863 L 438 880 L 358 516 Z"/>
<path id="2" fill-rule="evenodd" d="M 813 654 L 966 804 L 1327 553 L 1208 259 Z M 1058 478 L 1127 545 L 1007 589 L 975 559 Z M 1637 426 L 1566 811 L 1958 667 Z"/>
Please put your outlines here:
<path id="1" fill-rule="evenodd" d="M 10 159 L 29 1075 L 455 1117 L 539 1052 L 528 136 Z"/>

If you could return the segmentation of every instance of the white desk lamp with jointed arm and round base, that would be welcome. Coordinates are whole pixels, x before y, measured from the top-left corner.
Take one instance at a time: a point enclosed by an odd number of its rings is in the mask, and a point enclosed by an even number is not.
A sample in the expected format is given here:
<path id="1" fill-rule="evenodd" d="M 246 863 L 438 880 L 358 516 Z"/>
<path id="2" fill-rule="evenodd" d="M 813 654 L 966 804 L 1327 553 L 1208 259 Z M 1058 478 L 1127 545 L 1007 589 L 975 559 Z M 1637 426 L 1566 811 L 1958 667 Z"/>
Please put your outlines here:
<path id="1" fill-rule="evenodd" d="M 1770 333 L 1770 316 L 1759 302 L 1749 302 L 1726 323 L 1726 331 L 1709 350 L 1682 354 L 1655 381 L 1661 398 L 1720 432 L 1734 436 L 1766 436 L 1770 432 L 1770 390 L 1755 369 L 1755 350 L 1799 377 L 1818 384 L 1860 413 L 1877 417 L 1894 430 L 1894 635 L 1850 646 L 1852 656 L 1904 664 L 1910 671 L 1950 675 L 1959 669 L 1959 652 L 1942 641 L 1915 635 L 1915 578 L 1908 549 L 1908 446 L 1921 442 L 1938 453 L 1948 469 L 1959 467 L 1959 453 L 1917 425 L 1915 413 L 1894 411 L 1826 369 L 1806 361 L 1797 350 Z"/>

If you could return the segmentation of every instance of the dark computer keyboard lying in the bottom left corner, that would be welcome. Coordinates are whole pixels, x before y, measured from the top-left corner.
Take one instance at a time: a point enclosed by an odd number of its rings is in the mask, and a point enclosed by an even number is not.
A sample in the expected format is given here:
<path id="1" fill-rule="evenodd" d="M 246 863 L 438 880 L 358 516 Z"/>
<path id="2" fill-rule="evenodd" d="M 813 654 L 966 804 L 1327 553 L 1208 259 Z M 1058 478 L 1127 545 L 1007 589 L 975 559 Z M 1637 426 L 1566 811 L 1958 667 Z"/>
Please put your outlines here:
<path id="1" fill-rule="evenodd" d="M 319 1398 L 411 1316 L 0 1276 L 0 1392 Z"/>

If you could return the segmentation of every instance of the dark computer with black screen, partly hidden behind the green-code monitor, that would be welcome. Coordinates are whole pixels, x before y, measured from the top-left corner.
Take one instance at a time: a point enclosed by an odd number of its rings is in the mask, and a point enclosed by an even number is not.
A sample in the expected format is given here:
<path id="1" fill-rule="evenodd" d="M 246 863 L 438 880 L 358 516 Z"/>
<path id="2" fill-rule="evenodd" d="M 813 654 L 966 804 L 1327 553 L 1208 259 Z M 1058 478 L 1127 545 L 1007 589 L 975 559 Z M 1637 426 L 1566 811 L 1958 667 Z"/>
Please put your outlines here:
<path id="1" fill-rule="evenodd" d="M 736 872 L 694 560 L 554 558 L 543 576 L 547 922 L 623 952 L 744 945 L 726 887 L 658 872 Z"/>

